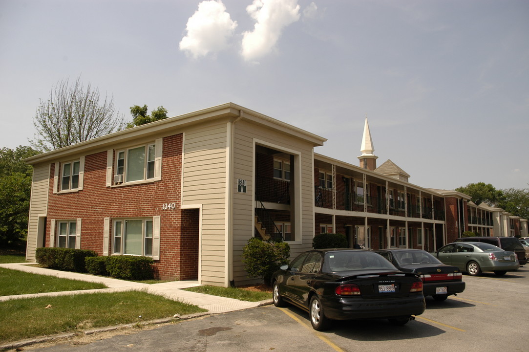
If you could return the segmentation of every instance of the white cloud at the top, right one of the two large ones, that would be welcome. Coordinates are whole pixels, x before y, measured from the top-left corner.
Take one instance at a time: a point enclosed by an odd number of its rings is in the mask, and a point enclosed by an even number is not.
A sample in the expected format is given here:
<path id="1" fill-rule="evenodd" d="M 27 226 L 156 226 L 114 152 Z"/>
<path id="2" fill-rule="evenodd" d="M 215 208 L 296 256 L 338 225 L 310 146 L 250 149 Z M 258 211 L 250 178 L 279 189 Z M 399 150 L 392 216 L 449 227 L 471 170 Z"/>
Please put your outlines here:
<path id="1" fill-rule="evenodd" d="M 246 11 L 256 21 L 252 32 L 243 33 L 242 56 L 247 61 L 269 53 L 281 31 L 299 20 L 297 0 L 253 0 Z"/>

